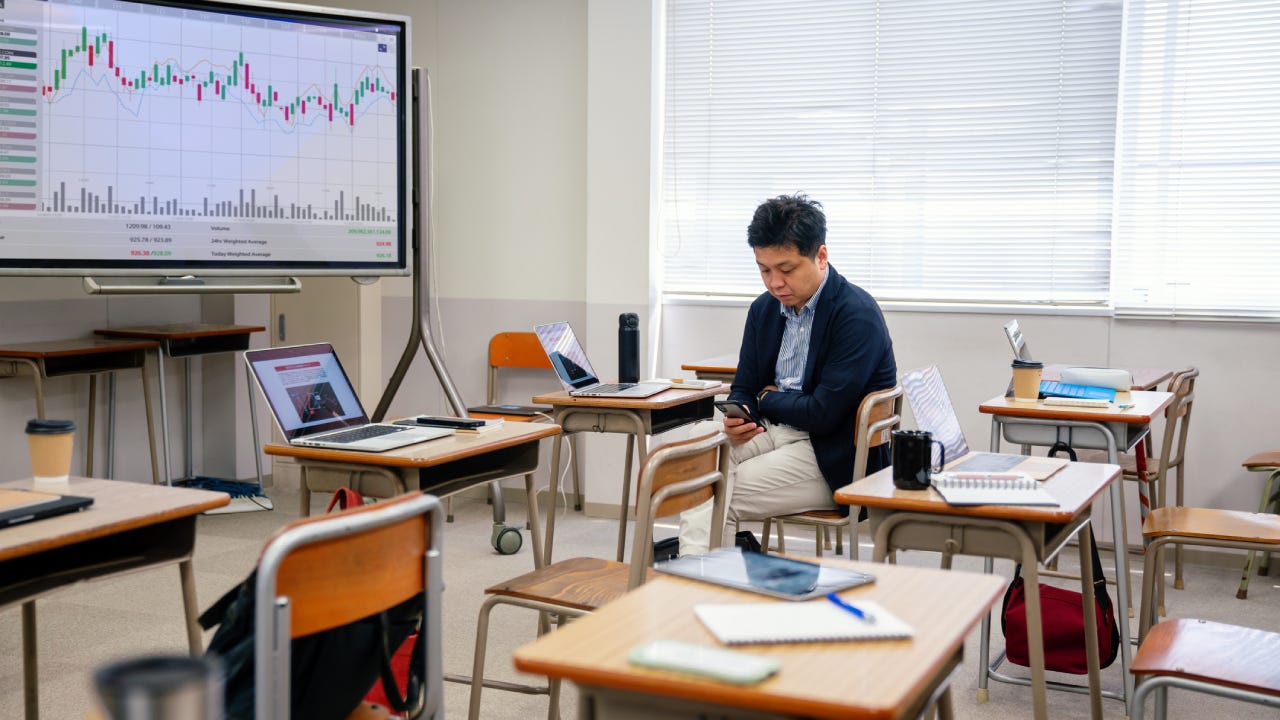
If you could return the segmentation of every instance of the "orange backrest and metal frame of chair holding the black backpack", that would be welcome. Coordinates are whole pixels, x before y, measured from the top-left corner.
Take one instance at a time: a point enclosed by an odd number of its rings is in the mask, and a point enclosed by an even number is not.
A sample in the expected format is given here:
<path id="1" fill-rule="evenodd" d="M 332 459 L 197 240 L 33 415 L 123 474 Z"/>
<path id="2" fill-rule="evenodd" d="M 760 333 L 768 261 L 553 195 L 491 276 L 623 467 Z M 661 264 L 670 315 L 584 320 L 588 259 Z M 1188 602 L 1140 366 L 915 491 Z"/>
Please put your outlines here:
<path id="1" fill-rule="evenodd" d="M 291 639 L 367 618 L 422 594 L 425 716 L 443 692 L 440 541 L 444 511 L 410 493 L 285 525 L 257 565 L 255 684 L 257 717 L 289 717 Z"/>

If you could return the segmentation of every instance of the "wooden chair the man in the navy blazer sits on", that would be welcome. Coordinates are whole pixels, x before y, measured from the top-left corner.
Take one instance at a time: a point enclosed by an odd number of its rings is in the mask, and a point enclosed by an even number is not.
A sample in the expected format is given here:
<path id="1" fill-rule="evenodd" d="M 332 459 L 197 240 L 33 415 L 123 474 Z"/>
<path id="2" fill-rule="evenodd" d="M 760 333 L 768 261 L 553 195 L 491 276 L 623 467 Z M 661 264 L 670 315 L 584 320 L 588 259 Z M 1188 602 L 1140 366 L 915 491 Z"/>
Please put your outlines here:
<path id="1" fill-rule="evenodd" d="M 867 457 L 870 448 L 888 445 L 890 433 L 902 421 L 902 386 L 893 386 L 888 389 L 873 392 L 863 398 L 858 405 L 858 425 L 854 430 L 854 477 L 860 480 L 867 477 Z M 764 546 L 769 544 L 769 525 L 776 520 L 778 524 L 778 552 L 786 552 L 786 523 L 797 525 L 813 525 L 814 541 L 817 542 L 818 557 L 822 557 L 823 546 L 827 544 L 827 532 L 836 530 L 836 555 L 842 555 L 841 539 L 844 529 L 849 528 L 849 555 L 858 560 L 858 507 L 850 507 L 849 515 L 841 515 L 838 510 L 810 510 L 808 512 L 795 512 L 792 515 L 780 515 L 764 519 Z"/>

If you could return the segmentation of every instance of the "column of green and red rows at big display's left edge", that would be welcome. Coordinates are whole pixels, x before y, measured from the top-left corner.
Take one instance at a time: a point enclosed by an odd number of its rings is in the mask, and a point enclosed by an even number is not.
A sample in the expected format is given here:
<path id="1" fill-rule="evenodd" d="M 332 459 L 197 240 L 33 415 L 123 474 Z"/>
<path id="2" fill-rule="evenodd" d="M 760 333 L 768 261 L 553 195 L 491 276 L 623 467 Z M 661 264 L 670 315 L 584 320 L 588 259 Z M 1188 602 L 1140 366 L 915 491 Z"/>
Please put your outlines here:
<path id="1" fill-rule="evenodd" d="M 37 208 L 38 44 L 33 27 L 0 27 L 0 210 Z"/>

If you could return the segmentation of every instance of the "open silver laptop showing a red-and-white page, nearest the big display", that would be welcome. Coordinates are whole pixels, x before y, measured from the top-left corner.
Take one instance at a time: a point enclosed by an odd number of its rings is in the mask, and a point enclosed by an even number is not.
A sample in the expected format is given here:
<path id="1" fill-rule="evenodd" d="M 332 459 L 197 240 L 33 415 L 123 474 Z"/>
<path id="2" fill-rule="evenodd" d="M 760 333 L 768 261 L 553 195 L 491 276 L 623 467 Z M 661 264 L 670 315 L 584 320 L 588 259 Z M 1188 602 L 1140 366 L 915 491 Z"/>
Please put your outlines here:
<path id="1" fill-rule="evenodd" d="M 370 423 L 328 342 L 244 352 L 289 445 L 381 452 L 453 434 L 451 428 Z"/>

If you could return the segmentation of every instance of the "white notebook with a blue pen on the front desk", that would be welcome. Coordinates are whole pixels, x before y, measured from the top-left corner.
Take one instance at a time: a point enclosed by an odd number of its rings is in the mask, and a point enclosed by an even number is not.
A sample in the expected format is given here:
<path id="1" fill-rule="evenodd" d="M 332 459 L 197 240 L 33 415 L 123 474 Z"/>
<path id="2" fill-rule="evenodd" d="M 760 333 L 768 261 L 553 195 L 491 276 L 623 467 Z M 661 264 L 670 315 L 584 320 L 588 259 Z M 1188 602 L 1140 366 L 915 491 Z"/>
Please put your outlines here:
<path id="1" fill-rule="evenodd" d="M 859 600 L 863 620 L 826 598 L 806 602 L 695 605 L 694 614 L 724 644 L 896 641 L 914 630 L 881 605 Z"/>

